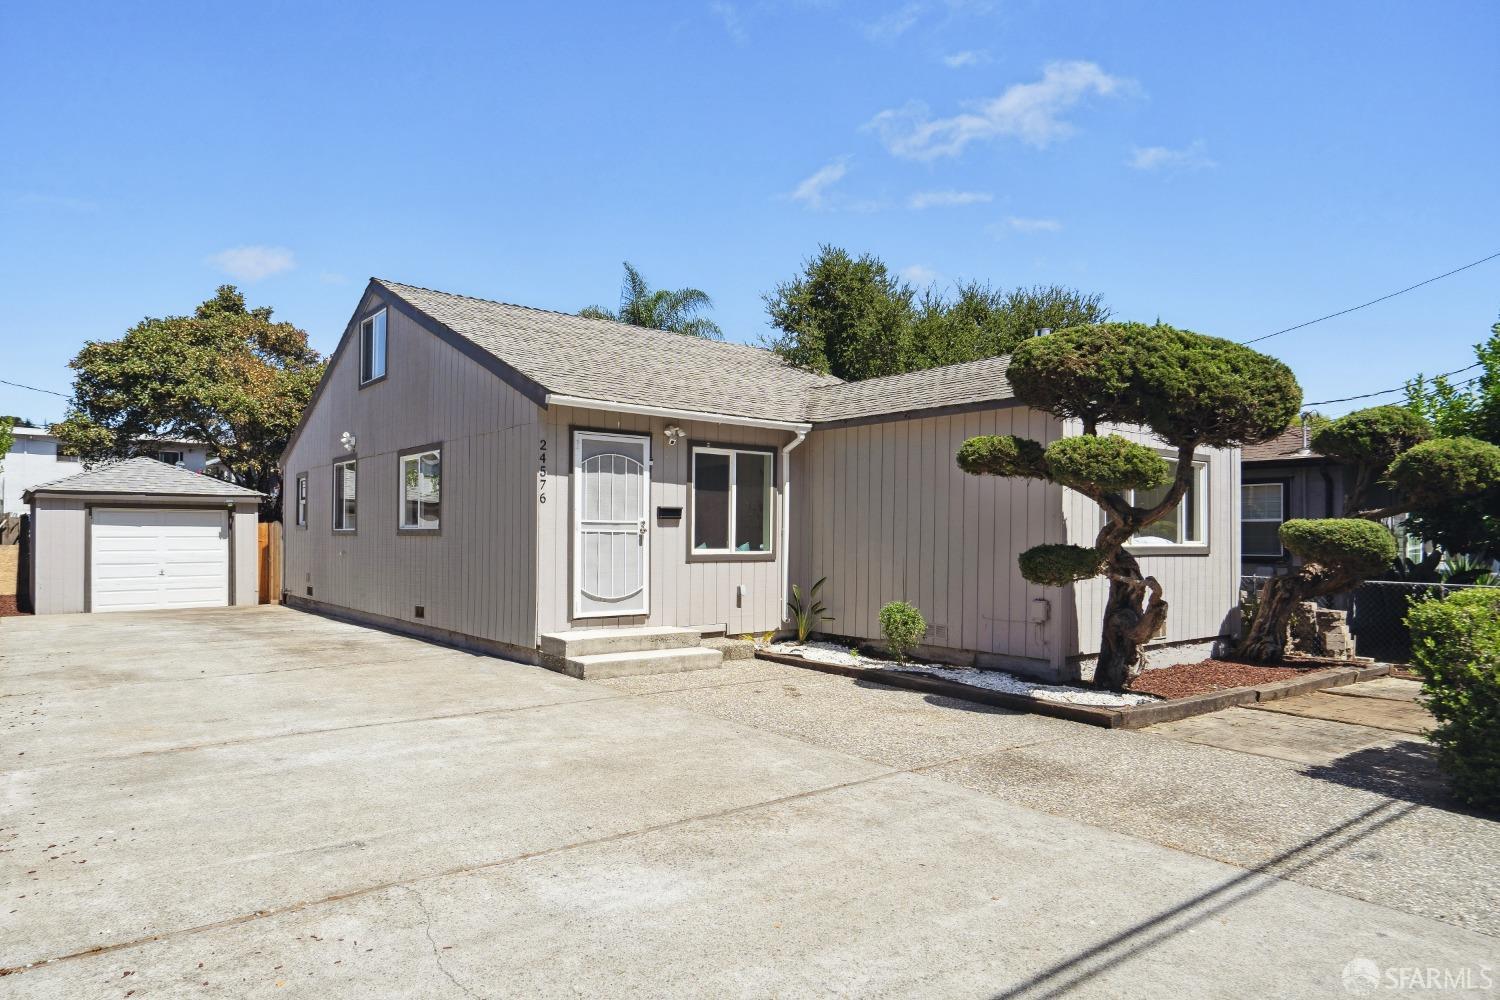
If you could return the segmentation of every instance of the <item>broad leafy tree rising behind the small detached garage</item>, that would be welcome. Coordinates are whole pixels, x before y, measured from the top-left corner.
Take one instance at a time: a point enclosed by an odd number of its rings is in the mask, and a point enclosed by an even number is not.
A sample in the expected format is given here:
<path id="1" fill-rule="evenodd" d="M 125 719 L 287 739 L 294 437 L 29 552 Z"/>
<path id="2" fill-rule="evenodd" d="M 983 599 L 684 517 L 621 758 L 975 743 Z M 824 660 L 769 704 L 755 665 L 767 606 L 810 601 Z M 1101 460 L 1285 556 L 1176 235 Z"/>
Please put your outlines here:
<path id="1" fill-rule="evenodd" d="M 52 424 L 66 451 L 100 460 L 201 441 L 279 517 L 276 463 L 324 369 L 304 331 L 220 285 L 194 315 L 142 319 L 118 340 L 86 343 L 69 366 L 74 397 Z"/>

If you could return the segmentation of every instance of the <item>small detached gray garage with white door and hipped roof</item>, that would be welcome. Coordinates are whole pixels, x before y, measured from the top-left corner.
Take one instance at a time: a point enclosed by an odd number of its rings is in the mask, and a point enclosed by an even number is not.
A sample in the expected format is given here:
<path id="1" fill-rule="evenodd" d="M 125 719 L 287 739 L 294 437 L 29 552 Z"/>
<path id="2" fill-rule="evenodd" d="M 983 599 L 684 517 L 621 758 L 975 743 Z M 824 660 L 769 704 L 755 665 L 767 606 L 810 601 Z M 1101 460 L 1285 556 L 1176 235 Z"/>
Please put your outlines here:
<path id="1" fill-rule="evenodd" d="M 126 459 L 44 483 L 24 499 L 38 615 L 258 600 L 255 490 Z"/>

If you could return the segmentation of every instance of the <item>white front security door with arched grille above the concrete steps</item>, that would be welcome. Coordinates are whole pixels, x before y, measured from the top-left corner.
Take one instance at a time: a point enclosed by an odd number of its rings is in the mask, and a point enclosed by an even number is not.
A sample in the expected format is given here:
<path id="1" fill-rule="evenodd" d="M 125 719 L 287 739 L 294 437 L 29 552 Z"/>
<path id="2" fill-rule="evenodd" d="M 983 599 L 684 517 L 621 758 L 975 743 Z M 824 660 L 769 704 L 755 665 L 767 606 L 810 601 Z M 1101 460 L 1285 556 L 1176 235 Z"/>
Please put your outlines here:
<path id="1" fill-rule="evenodd" d="M 645 615 L 651 439 L 573 433 L 573 618 Z"/>

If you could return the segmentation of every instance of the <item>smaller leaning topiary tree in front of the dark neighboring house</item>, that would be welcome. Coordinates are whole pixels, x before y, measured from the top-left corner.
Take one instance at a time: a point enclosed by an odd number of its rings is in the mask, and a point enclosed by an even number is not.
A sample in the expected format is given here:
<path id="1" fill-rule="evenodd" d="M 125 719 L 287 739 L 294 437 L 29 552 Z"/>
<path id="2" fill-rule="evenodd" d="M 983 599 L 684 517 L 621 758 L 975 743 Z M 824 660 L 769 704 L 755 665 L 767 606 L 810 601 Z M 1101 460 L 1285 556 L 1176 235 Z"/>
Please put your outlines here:
<path id="1" fill-rule="evenodd" d="M 1342 460 L 1353 474 L 1344 516 L 1281 526 L 1281 544 L 1302 565 L 1262 586 L 1238 655 L 1278 663 L 1286 657 L 1287 625 L 1298 604 L 1342 594 L 1386 570 L 1396 544 L 1382 519 L 1436 514 L 1500 486 L 1500 447 L 1432 433 L 1432 426 L 1406 406 L 1358 409 L 1314 432 L 1314 451 Z"/>

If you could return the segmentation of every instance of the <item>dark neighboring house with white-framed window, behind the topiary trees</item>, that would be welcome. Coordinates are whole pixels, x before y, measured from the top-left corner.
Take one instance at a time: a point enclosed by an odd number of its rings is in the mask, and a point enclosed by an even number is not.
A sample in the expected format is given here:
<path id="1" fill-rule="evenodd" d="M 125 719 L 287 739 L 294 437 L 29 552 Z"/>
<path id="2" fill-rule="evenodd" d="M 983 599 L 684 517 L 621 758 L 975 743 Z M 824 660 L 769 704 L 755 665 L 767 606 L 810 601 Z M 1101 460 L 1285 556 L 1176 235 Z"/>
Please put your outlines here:
<path id="1" fill-rule="evenodd" d="M 1281 547 L 1281 523 L 1299 517 L 1342 517 L 1350 466 L 1312 450 L 1306 417 L 1281 435 L 1245 445 L 1240 454 L 1240 564 L 1245 576 L 1275 576 L 1298 562 Z M 1374 502 L 1389 493 L 1378 490 Z M 1383 522 L 1401 553 L 1422 559 L 1422 540 L 1406 529 L 1406 514 Z"/>

